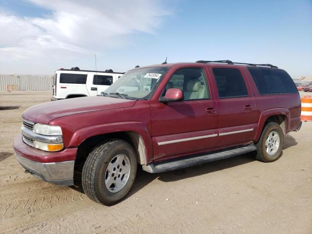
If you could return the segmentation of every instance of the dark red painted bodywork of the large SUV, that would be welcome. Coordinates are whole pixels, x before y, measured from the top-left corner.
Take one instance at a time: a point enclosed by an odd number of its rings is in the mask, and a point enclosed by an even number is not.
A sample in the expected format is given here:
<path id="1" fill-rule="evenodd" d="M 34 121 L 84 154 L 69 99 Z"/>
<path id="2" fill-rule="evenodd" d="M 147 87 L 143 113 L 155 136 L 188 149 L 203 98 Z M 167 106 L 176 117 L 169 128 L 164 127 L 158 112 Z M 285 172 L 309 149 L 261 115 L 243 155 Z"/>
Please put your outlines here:
<path id="1" fill-rule="evenodd" d="M 155 65 L 154 65 L 155 66 Z M 52 162 L 73 160 L 77 147 L 87 138 L 122 131 L 137 132 L 145 145 L 146 161 L 163 160 L 194 153 L 222 149 L 257 141 L 266 119 L 272 115 L 285 117 L 286 133 L 300 123 L 299 94 L 260 95 L 246 66 L 176 63 L 170 67 L 150 100 L 108 97 L 86 97 L 47 102 L 26 110 L 23 118 L 62 128 L 65 150 L 48 153 L 34 149 L 18 137 L 15 150 L 31 160 Z M 202 68 L 207 77 L 210 99 L 159 101 L 167 81 L 176 70 Z M 213 68 L 234 68 L 242 73 L 248 97 L 220 99 L 216 92 Z M 181 92 L 169 89 L 166 98 L 180 98 Z M 218 134 L 253 129 L 219 136 Z M 200 138 L 214 135 L 216 137 Z M 158 145 L 160 142 L 199 137 L 195 140 Z"/>

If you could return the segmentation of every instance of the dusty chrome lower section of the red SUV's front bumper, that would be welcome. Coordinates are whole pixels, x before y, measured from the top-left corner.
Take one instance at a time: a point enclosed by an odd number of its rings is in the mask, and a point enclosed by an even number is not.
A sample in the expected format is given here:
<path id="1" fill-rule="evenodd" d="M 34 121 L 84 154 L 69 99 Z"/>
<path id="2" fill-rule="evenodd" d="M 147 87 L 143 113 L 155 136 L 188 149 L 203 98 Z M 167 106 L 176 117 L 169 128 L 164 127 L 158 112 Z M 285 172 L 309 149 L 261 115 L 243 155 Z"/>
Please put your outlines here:
<path id="1" fill-rule="evenodd" d="M 74 185 L 75 161 L 40 163 L 20 156 L 15 152 L 20 165 L 32 175 L 57 185 Z"/>

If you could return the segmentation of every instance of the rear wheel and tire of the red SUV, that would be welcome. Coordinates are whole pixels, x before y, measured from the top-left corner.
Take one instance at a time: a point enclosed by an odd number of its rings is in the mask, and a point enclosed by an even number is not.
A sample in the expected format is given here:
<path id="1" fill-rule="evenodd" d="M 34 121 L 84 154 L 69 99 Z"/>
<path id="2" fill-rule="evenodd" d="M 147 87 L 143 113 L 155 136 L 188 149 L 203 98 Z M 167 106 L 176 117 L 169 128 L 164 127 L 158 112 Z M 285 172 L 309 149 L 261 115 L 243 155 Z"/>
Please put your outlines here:
<path id="1" fill-rule="evenodd" d="M 272 135 L 270 135 L 271 133 Z M 269 135 L 271 138 L 269 137 Z M 277 135 L 278 137 L 276 137 L 275 135 Z M 278 145 L 277 139 L 279 139 Z M 259 141 L 255 144 L 255 146 L 257 147 L 257 154 L 255 158 L 262 162 L 273 162 L 282 156 L 283 145 L 283 130 L 277 123 L 270 122 L 265 126 Z"/>

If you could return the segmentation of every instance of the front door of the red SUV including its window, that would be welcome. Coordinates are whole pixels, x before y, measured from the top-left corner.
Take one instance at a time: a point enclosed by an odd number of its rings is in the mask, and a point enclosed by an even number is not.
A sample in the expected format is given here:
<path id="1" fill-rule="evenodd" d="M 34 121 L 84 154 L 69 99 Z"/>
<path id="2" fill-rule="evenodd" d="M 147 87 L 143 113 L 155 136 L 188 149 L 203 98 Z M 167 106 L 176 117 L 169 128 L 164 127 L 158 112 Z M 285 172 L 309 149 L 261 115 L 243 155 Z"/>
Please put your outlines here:
<path id="1" fill-rule="evenodd" d="M 151 100 L 154 160 L 213 149 L 217 139 L 216 102 L 203 68 L 181 68 L 170 74 L 161 96 L 178 88 L 184 101 Z"/>

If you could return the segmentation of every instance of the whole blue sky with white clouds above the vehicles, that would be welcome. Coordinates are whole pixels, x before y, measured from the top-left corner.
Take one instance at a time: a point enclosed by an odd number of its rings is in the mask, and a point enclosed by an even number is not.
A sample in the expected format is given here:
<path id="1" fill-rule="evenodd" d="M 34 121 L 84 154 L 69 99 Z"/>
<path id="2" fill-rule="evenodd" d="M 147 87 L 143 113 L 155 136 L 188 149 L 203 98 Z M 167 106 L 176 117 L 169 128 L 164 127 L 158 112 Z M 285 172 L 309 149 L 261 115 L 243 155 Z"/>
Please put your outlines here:
<path id="1" fill-rule="evenodd" d="M 0 74 L 223 60 L 312 75 L 312 0 L 0 0 Z"/>

